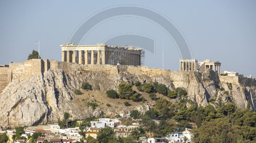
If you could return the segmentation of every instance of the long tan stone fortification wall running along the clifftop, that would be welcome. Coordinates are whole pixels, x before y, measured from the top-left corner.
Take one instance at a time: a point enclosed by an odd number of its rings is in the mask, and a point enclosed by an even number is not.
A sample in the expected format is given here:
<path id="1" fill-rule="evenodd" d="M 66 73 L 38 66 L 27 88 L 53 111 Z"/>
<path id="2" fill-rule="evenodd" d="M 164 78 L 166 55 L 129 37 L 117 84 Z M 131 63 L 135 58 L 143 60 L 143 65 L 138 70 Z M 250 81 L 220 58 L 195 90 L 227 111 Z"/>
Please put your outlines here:
<path id="1" fill-rule="evenodd" d="M 32 59 L 25 61 L 24 63 L 10 63 L 9 67 L 0 67 L 0 92 L 2 92 L 12 80 L 30 78 L 35 75 L 40 75 L 49 69 L 62 69 L 67 73 L 74 73 L 78 70 L 84 70 L 100 71 L 111 74 L 127 72 L 136 75 L 163 76 L 172 80 L 175 87 L 184 88 L 188 87 L 190 76 L 196 75 L 195 71 L 170 71 L 166 69 L 147 68 L 146 66 L 80 65 L 76 63 L 58 62 L 56 60 Z M 241 83 L 249 87 L 256 86 L 256 80 L 253 78 L 238 76 L 219 77 L 218 73 L 214 71 L 209 71 L 208 74 L 210 75 L 210 80 L 230 82 L 234 84 Z"/>

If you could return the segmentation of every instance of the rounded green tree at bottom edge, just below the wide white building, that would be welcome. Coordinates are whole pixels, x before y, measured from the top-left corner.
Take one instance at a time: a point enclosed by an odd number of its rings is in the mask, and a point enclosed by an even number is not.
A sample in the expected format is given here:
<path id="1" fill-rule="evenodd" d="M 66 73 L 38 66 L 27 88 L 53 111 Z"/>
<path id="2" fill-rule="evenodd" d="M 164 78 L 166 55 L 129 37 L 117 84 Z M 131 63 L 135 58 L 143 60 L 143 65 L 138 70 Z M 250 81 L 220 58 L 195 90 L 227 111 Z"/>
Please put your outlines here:
<path id="1" fill-rule="evenodd" d="M 99 142 L 107 143 L 115 137 L 115 132 L 111 127 L 105 127 L 97 133 Z"/>

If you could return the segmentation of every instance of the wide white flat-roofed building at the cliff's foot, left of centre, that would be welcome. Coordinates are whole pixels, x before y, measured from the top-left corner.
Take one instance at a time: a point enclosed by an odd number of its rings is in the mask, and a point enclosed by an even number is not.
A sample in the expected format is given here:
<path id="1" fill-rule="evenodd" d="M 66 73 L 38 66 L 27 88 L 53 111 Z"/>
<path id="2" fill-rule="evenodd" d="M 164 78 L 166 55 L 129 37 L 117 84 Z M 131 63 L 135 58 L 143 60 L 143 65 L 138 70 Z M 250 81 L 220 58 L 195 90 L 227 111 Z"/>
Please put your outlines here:
<path id="1" fill-rule="evenodd" d="M 98 121 L 91 121 L 92 128 L 105 128 L 107 126 L 114 128 L 115 123 L 110 118 L 100 118 Z"/>

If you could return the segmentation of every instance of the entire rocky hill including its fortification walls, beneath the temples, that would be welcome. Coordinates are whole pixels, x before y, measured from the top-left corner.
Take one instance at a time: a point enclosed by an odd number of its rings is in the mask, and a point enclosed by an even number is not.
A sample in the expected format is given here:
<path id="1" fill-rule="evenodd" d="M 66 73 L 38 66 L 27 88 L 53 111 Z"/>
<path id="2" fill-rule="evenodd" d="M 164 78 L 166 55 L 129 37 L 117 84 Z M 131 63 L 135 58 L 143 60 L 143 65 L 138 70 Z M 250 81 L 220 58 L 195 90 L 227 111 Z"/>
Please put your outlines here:
<path id="1" fill-rule="evenodd" d="M 148 98 L 147 93 L 136 91 L 147 101 L 143 104 L 130 101 L 132 106 L 129 107 L 119 105 L 125 99 L 110 99 L 105 95 L 108 90 L 117 91 L 119 83 L 136 81 L 157 81 L 172 91 L 178 87 L 184 88 L 187 98 L 197 106 L 215 106 L 215 102 L 221 100 L 223 103 L 234 102 L 241 109 L 248 107 L 256 110 L 256 80 L 253 78 L 224 76 L 214 70 L 170 71 L 145 66 L 102 64 L 102 59 L 97 64 L 96 61 L 95 64 L 79 64 L 79 61 L 71 63 L 32 59 L 24 63 L 10 63 L 9 67 L 0 67 L 0 126 L 6 128 L 54 123 L 62 120 L 63 112 L 66 111 L 72 119 L 98 117 L 103 113 L 110 116 L 125 115 L 134 109 L 145 112 L 155 102 Z M 185 69 L 182 66 L 181 68 Z M 83 95 L 75 95 L 74 91 L 80 89 L 82 82 L 89 82 L 92 91 L 82 90 Z M 232 84 L 231 89 L 227 83 Z M 166 98 L 161 94 L 157 96 Z M 172 102 L 180 100 L 166 99 Z M 214 99 L 215 102 L 209 102 L 209 99 Z M 99 104 L 96 109 L 82 106 L 83 102 L 95 100 Z M 106 103 L 112 106 L 107 107 Z"/>

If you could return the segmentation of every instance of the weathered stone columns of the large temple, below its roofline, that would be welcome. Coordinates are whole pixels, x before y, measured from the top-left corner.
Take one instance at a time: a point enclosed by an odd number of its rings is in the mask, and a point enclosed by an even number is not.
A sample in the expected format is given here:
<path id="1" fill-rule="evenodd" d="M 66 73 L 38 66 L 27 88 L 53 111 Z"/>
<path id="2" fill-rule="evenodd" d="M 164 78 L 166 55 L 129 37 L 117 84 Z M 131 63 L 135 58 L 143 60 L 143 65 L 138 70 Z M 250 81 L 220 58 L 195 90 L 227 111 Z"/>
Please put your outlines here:
<path id="1" fill-rule="evenodd" d="M 140 66 L 141 58 L 140 54 L 128 53 L 128 52 L 119 52 L 119 51 L 105 51 L 97 50 L 97 56 L 94 57 L 94 50 L 91 51 L 91 64 L 94 64 L 94 59 L 96 58 L 97 64 L 111 64 L 117 65 L 122 61 L 125 62 L 125 65 L 134 65 Z M 72 58 L 71 58 L 72 57 Z M 84 59 L 83 59 L 84 57 Z M 68 63 L 77 63 L 77 64 L 89 64 L 88 61 L 89 51 L 88 50 L 78 50 L 78 51 L 62 51 L 61 61 Z"/>

